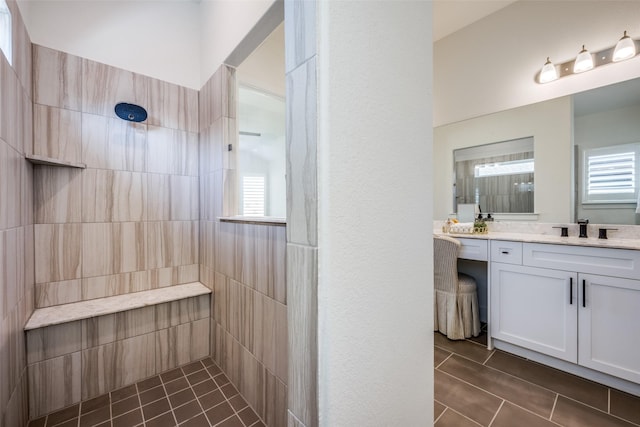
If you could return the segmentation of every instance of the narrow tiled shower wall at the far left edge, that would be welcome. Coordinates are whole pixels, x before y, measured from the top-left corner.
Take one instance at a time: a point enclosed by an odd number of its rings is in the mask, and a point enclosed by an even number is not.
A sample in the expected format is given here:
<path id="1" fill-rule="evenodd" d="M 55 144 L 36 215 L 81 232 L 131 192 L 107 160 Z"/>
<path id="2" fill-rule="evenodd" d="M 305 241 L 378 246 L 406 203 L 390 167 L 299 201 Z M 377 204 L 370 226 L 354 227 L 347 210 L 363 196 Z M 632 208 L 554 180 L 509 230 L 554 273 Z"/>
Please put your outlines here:
<path id="1" fill-rule="evenodd" d="M 0 53 L 0 426 L 26 425 L 22 328 L 33 312 L 31 41 L 15 1 L 13 65 Z"/>

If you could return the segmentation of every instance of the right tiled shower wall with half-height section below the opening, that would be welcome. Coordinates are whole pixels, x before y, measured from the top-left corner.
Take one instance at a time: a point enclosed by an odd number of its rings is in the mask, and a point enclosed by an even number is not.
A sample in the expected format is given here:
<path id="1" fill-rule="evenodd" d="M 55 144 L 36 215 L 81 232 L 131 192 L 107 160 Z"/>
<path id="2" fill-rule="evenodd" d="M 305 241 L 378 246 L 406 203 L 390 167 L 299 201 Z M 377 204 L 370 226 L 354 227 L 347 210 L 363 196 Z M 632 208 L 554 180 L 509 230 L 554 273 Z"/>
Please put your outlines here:
<path id="1" fill-rule="evenodd" d="M 267 425 L 284 426 L 285 227 L 219 221 L 234 212 L 235 129 L 235 70 L 222 66 L 200 91 L 200 281 L 214 292 L 211 354 Z"/>

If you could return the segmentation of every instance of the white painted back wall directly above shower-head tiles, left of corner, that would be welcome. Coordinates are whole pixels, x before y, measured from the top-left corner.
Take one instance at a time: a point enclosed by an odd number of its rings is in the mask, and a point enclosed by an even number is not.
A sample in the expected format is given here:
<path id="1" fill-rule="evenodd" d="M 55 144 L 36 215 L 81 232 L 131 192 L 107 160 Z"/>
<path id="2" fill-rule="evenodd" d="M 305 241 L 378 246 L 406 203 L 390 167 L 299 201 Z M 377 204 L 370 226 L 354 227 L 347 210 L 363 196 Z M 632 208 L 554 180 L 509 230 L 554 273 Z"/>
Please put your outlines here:
<path id="1" fill-rule="evenodd" d="M 197 2 L 19 0 L 18 5 L 33 43 L 201 87 Z"/>

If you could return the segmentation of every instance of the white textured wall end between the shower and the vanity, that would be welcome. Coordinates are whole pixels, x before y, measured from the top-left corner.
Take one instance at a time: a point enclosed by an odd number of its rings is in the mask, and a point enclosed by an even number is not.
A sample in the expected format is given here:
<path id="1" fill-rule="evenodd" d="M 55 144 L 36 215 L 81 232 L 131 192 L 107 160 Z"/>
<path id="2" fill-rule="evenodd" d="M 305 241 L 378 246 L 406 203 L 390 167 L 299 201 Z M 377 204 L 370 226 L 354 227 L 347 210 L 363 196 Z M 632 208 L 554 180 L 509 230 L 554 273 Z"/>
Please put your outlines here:
<path id="1" fill-rule="evenodd" d="M 318 7 L 320 425 L 431 425 L 431 3 Z"/>

